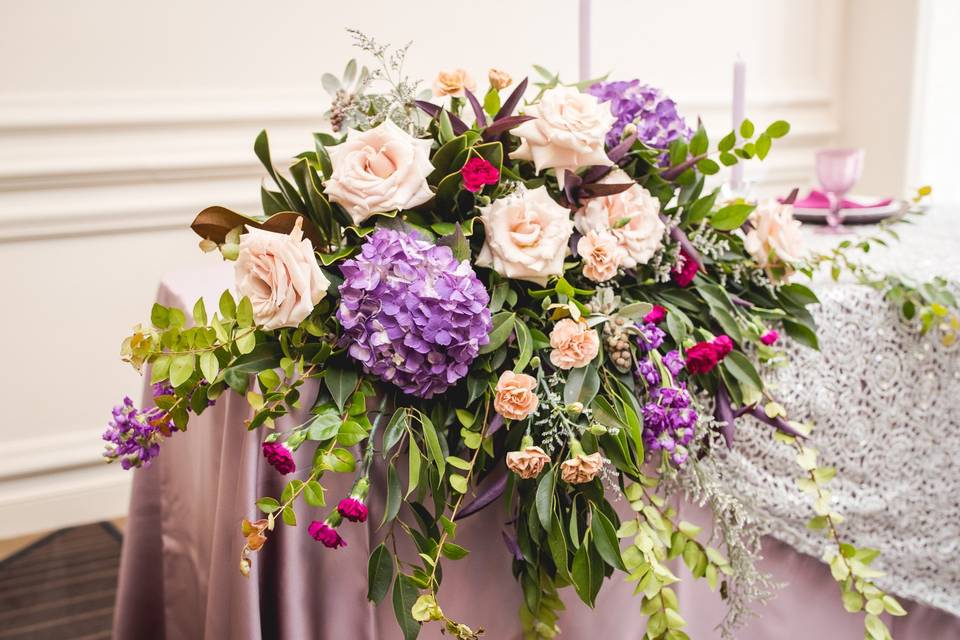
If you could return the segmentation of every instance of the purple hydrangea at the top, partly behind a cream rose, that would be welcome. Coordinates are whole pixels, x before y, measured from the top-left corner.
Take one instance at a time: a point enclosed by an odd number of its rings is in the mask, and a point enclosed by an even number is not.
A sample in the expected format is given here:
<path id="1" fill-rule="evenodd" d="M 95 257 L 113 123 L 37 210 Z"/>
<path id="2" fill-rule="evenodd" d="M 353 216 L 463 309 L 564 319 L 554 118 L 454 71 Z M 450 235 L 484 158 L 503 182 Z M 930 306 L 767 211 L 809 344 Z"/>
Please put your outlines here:
<path id="1" fill-rule="evenodd" d="M 600 102 L 609 102 L 616 118 L 607 133 L 607 145 L 620 142 L 623 129 L 630 123 L 637 126 L 637 138 L 657 149 L 666 149 L 677 138 L 689 140 L 693 135 L 677 104 L 656 87 L 640 84 L 639 80 L 598 82 L 587 89 Z"/>

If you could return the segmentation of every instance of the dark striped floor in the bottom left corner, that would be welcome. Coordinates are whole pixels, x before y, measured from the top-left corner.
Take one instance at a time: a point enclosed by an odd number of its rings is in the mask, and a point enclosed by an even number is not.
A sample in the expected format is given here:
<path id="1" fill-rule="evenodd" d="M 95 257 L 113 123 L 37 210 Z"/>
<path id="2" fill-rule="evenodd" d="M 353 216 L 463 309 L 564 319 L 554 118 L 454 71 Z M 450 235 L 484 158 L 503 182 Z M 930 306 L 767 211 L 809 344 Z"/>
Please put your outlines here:
<path id="1" fill-rule="evenodd" d="M 117 529 L 61 529 L 0 562 L 0 640 L 110 637 L 120 565 Z"/>

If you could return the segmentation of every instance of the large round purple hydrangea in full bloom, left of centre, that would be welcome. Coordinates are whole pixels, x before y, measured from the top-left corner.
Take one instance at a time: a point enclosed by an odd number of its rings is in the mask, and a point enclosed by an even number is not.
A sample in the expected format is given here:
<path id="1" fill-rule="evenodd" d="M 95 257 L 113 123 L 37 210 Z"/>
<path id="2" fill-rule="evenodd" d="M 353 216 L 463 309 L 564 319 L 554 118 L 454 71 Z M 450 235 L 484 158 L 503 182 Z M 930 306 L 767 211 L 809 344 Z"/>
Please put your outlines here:
<path id="1" fill-rule="evenodd" d="M 378 229 L 341 271 L 342 345 L 364 371 L 405 393 L 443 393 L 489 341 L 490 296 L 450 247 Z"/>

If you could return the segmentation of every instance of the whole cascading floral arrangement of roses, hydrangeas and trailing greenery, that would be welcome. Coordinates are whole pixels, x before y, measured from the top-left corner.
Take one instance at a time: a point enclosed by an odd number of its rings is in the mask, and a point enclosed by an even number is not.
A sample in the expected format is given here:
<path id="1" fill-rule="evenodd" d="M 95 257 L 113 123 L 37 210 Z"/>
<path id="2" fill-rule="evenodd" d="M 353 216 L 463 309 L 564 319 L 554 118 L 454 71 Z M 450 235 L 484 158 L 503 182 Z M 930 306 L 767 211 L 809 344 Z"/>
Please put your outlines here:
<path id="1" fill-rule="evenodd" d="M 114 410 L 107 457 L 148 464 L 191 415 L 242 394 L 266 461 L 298 473 L 243 521 L 244 574 L 277 526 L 305 515 L 304 535 L 332 552 L 371 518 L 419 554 L 376 547 L 370 600 L 392 591 L 405 638 L 431 621 L 474 638 L 443 612 L 439 568 L 468 553 L 461 521 L 499 502 L 526 637 L 555 637 L 567 587 L 592 605 L 622 574 L 646 637 L 686 638 L 671 559 L 721 589 L 727 634 L 774 587 L 753 565 L 762 514 L 715 471 L 749 417 L 795 449 L 843 603 L 888 637 L 879 614 L 904 611 L 871 582 L 877 554 L 840 539 L 833 470 L 764 384 L 785 340 L 817 348 L 817 298 L 791 281 L 814 268 L 799 223 L 790 204 L 705 187 L 720 164 L 766 158 L 789 125 L 747 120 L 713 145 L 658 89 L 546 72 L 528 101 L 528 81 L 503 71 L 482 97 L 466 72 L 443 72 L 431 102 L 402 75 L 404 49 L 355 36 L 381 66 L 324 76 L 332 132 L 288 175 L 257 138 L 274 183 L 263 215 L 211 207 L 194 221 L 204 250 L 235 261 L 235 294 L 212 314 L 198 300 L 189 324 L 155 305 L 126 339 L 155 406 Z M 293 410 L 308 419 L 281 426 Z M 332 473 L 354 475 L 349 495 L 325 495 Z M 678 519 L 667 497 L 682 493 L 713 508 L 713 539 Z"/>

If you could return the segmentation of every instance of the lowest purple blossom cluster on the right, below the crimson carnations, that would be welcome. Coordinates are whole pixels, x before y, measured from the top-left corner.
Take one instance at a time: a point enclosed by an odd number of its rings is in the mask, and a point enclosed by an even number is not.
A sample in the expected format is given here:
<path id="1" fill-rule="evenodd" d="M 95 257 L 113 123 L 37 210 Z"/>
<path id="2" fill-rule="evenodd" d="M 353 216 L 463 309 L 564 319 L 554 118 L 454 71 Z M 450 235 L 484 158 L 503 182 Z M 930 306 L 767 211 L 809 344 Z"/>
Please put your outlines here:
<path id="1" fill-rule="evenodd" d="M 643 407 L 643 441 L 648 451 L 667 451 L 675 465 L 686 462 L 699 416 L 685 387 L 650 392 Z"/>

